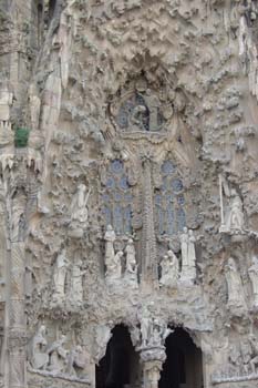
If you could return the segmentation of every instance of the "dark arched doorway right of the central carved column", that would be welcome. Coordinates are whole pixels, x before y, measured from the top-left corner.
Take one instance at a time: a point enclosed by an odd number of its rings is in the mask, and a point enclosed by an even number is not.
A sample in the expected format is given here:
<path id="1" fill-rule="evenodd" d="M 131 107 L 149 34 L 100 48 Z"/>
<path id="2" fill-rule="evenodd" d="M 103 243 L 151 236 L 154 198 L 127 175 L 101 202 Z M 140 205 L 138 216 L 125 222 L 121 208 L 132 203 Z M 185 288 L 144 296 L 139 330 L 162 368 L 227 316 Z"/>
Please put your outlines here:
<path id="1" fill-rule="evenodd" d="M 176 328 L 166 339 L 166 355 L 158 388 L 203 388 L 202 351 L 188 333 Z"/>

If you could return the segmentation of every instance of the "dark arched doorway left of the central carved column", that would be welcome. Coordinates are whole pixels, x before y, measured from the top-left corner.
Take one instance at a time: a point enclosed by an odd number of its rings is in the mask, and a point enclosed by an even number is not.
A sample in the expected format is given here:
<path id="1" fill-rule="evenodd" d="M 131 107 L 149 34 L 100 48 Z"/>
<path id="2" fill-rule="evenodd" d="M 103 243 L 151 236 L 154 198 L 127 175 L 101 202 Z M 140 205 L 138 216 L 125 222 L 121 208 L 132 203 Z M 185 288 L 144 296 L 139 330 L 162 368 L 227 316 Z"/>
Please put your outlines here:
<path id="1" fill-rule="evenodd" d="M 138 355 L 128 329 L 117 325 L 112 333 L 105 357 L 96 366 L 96 388 L 137 387 L 141 379 Z"/>

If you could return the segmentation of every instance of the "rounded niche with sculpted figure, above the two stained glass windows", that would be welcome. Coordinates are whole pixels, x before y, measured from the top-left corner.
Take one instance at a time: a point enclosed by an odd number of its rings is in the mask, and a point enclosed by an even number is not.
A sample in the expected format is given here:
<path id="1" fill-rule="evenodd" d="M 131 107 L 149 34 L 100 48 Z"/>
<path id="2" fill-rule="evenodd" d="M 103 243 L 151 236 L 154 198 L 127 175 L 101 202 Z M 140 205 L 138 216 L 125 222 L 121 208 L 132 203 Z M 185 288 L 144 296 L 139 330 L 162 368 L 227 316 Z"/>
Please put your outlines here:
<path id="1" fill-rule="evenodd" d="M 123 132 L 158 132 L 164 123 L 161 101 L 151 89 L 126 93 L 114 116 Z"/>

